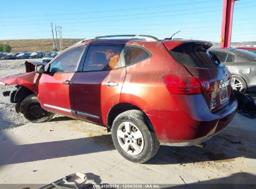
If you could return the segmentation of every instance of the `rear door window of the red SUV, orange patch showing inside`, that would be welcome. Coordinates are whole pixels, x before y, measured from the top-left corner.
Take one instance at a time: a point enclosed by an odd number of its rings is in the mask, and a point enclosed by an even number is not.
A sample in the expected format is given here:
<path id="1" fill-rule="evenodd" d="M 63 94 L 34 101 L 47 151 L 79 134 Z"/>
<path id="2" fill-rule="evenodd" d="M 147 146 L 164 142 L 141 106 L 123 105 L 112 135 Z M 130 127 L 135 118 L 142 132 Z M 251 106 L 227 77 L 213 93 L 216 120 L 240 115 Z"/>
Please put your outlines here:
<path id="1" fill-rule="evenodd" d="M 91 45 L 85 58 L 83 71 L 100 71 L 120 68 L 120 52 L 120 45 Z"/>

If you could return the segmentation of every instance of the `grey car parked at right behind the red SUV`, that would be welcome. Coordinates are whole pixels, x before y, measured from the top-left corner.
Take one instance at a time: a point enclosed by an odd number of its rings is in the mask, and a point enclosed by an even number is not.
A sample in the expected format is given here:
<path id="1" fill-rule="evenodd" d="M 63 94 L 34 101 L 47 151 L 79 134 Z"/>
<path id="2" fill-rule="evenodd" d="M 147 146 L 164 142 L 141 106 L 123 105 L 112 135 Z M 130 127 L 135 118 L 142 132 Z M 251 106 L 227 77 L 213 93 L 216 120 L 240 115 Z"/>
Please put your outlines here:
<path id="1" fill-rule="evenodd" d="M 242 93 L 256 92 L 256 54 L 238 48 L 210 48 L 232 74 L 232 88 Z"/>

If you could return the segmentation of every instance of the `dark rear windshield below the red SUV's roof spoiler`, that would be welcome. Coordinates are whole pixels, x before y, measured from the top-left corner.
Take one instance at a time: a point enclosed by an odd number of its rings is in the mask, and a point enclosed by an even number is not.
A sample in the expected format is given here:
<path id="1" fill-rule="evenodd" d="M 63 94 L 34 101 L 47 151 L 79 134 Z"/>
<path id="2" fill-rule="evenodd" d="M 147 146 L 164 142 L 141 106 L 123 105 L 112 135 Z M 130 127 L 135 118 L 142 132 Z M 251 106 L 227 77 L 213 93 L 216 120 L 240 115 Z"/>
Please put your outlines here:
<path id="1" fill-rule="evenodd" d="M 189 67 L 218 68 L 219 60 L 200 44 L 182 44 L 170 50 L 179 63 Z"/>

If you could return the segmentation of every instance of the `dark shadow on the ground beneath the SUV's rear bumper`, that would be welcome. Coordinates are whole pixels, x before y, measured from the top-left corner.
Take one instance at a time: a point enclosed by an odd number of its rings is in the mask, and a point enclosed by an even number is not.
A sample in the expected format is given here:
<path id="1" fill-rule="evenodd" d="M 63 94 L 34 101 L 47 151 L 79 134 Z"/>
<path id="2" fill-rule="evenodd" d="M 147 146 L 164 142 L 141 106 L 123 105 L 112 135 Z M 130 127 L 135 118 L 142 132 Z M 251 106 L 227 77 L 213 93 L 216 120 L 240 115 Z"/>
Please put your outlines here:
<path id="1" fill-rule="evenodd" d="M 237 157 L 256 159 L 256 133 L 228 127 L 206 141 L 206 147 L 160 146 L 158 153 L 146 164 L 181 164 L 213 161 L 232 162 Z"/>

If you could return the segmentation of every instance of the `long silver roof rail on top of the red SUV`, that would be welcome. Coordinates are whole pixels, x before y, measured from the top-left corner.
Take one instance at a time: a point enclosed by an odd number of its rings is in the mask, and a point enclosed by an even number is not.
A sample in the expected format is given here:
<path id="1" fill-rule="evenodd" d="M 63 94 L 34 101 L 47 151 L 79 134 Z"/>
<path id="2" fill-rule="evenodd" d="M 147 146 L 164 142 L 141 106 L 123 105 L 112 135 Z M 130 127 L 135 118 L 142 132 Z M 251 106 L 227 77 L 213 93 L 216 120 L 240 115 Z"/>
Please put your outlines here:
<path id="1" fill-rule="evenodd" d="M 151 36 L 151 35 L 103 35 L 103 36 L 98 36 L 95 38 L 84 39 L 84 40 L 78 42 L 77 44 L 80 44 L 80 43 L 83 43 L 86 41 L 99 40 L 99 39 L 105 39 L 105 38 L 111 38 L 111 37 L 128 37 L 131 39 L 140 39 L 141 37 L 143 37 L 145 40 L 148 40 L 148 41 L 159 41 L 158 38 Z"/>

